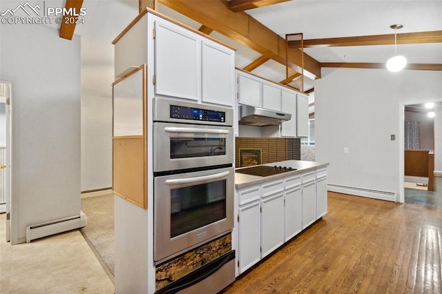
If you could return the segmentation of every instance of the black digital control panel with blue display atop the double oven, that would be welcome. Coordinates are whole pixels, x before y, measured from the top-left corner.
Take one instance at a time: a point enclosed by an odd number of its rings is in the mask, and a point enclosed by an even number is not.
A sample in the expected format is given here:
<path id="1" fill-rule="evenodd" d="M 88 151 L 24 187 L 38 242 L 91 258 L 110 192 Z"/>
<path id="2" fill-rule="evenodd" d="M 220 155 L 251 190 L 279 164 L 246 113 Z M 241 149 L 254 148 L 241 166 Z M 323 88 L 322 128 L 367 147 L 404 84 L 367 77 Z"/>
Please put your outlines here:
<path id="1" fill-rule="evenodd" d="M 215 121 L 224 123 L 226 112 L 201 108 L 171 105 L 171 119 L 189 119 L 192 121 Z"/>

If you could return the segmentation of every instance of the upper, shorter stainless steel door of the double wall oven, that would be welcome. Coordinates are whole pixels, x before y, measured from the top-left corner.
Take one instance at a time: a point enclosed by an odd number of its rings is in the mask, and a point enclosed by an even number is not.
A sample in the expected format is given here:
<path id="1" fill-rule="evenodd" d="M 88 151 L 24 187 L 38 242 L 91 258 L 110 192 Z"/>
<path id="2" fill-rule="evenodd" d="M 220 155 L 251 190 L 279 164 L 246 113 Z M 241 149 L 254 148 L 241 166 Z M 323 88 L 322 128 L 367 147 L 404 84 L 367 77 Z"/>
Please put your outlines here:
<path id="1" fill-rule="evenodd" d="M 233 164 L 233 128 L 153 124 L 153 171 Z"/>

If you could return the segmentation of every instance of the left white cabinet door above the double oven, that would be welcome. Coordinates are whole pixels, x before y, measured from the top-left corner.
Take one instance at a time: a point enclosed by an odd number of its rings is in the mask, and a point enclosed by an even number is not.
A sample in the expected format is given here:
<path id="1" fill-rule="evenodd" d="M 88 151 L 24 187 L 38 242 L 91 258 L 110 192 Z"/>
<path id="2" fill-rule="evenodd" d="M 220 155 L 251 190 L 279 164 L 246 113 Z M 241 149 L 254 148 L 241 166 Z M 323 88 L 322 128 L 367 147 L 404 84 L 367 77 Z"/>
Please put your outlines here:
<path id="1" fill-rule="evenodd" d="M 155 21 L 155 93 L 198 100 L 201 96 L 198 35 L 166 21 Z"/>

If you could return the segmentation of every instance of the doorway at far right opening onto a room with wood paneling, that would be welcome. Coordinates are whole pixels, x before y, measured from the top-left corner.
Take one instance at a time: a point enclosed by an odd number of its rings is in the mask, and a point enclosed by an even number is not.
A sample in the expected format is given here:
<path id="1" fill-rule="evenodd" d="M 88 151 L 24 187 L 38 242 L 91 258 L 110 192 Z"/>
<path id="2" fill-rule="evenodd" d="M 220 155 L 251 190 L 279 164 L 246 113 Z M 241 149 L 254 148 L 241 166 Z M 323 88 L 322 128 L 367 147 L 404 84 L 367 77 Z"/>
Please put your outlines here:
<path id="1" fill-rule="evenodd" d="M 442 101 L 403 104 L 399 202 L 442 208 Z M 430 113 L 430 114 L 429 114 Z"/>

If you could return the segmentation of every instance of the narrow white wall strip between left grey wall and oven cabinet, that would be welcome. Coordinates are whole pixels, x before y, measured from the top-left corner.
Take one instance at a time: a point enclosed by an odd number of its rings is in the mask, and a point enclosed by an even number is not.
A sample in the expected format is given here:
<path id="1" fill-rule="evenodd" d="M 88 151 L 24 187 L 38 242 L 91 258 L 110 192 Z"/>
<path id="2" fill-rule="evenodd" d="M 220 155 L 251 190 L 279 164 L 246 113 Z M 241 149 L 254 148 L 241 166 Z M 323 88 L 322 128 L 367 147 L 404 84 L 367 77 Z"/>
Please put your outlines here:
<path id="1" fill-rule="evenodd" d="M 112 41 L 137 16 L 138 1 L 84 1 L 81 25 L 81 190 L 112 186 Z"/>

